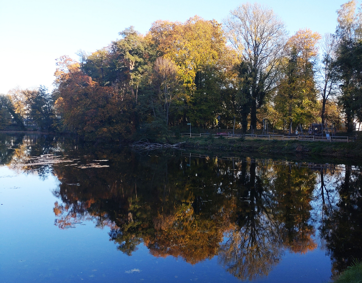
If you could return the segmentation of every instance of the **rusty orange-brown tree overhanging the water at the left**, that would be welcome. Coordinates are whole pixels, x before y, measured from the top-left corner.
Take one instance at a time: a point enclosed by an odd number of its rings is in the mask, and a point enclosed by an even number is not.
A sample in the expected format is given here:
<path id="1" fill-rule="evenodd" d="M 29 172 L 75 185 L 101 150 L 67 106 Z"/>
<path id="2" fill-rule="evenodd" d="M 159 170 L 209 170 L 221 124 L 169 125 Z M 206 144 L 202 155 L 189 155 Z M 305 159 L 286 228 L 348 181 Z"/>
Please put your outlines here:
<path id="1" fill-rule="evenodd" d="M 128 138 L 132 133 L 130 98 L 120 98 L 113 88 L 100 86 L 69 57 L 61 57 L 57 65 L 55 108 L 64 125 L 88 139 Z"/>

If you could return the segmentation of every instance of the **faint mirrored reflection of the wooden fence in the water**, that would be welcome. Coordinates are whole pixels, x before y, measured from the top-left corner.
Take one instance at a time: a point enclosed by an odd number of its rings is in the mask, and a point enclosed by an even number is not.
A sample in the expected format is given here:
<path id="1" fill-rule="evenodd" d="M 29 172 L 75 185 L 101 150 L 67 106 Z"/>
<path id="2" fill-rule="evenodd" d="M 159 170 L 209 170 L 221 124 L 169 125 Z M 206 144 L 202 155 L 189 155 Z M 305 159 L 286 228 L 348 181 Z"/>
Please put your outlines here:
<path id="1" fill-rule="evenodd" d="M 314 162 L 292 162 L 292 161 L 285 161 L 285 160 L 271 160 L 271 159 L 255 159 L 255 158 L 245 158 L 245 157 L 222 157 L 222 156 L 209 156 L 205 154 L 195 154 L 195 153 L 181 153 L 182 157 L 195 157 L 195 158 L 217 158 L 217 160 L 223 161 L 231 161 L 231 162 L 242 162 L 248 161 L 252 163 L 262 163 L 263 165 L 283 165 L 283 166 L 293 166 L 298 168 L 311 168 L 313 170 L 320 170 L 320 169 L 331 169 L 331 170 L 345 170 L 344 166 L 340 165 L 333 165 L 329 163 L 314 163 Z"/>

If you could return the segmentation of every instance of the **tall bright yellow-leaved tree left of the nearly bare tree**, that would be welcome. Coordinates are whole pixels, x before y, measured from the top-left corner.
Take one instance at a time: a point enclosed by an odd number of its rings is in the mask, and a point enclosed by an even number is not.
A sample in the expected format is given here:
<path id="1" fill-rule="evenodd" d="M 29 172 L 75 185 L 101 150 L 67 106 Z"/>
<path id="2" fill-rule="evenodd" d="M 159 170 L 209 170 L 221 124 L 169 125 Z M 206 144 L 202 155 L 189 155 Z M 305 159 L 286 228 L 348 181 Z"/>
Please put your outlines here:
<path id="1" fill-rule="evenodd" d="M 175 103 L 179 119 L 212 125 L 220 114 L 219 74 L 233 65 L 221 25 L 198 16 L 184 23 L 156 21 L 147 37 L 160 55 L 178 66 L 185 90 Z"/>

